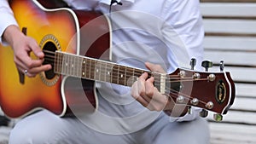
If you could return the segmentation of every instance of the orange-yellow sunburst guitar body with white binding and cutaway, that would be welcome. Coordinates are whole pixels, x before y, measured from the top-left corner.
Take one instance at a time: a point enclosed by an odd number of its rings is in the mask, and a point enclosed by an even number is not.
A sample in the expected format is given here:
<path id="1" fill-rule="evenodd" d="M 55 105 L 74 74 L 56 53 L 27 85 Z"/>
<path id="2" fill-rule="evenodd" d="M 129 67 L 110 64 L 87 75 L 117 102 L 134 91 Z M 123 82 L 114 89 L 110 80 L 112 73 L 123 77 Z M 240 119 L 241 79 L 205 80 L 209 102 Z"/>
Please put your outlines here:
<path id="1" fill-rule="evenodd" d="M 22 29 L 20 31 L 33 37 L 41 49 L 97 59 L 103 55 L 108 59 L 110 26 L 102 14 L 44 9 L 40 3 L 31 0 L 13 0 L 10 6 Z M 97 17 L 101 19 L 97 20 Z M 74 106 L 81 106 L 83 112 L 95 111 L 94 81 L 55 74 L 53 70 L 42 72 L 36 78 L 22 78 L 15 67 L 13 50 L 0 47 L 0 105 L 9 118 L 24 117 L 38 109 L 66 116 L 72 113 L 71 107 Z M 35 59 L 34 55 L 31 56 Z M 45 58 L 45 63 L 52 61 Z"/>

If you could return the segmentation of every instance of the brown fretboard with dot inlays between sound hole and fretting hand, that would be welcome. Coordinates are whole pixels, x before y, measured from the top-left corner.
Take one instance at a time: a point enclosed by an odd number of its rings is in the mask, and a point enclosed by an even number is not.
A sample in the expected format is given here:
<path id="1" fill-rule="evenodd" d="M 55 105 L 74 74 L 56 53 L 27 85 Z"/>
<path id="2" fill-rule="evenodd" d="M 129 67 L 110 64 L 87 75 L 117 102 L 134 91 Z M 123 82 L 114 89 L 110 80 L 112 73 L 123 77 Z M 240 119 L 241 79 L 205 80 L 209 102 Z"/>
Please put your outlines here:
<path id="1" fill-rule="evenodd" d="M 131 86 L 143 72 L 141 69 L 121 66 L 113 62 L 97 60 L 61 51 L 55 52 L 54 72 L 76 78 Z M 148 73 L 150 77 L 150 73 Z"/>

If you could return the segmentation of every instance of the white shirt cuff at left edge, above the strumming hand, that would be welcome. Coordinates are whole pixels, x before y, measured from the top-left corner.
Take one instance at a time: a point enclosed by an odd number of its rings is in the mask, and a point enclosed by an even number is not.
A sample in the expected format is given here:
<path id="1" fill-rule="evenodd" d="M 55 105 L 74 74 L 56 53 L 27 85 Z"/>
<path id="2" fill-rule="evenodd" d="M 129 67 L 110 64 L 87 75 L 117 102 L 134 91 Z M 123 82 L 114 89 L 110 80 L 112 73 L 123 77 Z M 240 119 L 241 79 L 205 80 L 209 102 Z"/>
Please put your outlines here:
<path id="1" fill-rule="evenodd" d="M 8 26 L 15 25 L 18 26 L 17 21 L 15 20 L 14 13 L 12 9 L 9 7 L 9 3 L 7 0 L 2 0 L 0 3 L 0 43 L 6 44 L 3 42 L 3 32 Z"/>

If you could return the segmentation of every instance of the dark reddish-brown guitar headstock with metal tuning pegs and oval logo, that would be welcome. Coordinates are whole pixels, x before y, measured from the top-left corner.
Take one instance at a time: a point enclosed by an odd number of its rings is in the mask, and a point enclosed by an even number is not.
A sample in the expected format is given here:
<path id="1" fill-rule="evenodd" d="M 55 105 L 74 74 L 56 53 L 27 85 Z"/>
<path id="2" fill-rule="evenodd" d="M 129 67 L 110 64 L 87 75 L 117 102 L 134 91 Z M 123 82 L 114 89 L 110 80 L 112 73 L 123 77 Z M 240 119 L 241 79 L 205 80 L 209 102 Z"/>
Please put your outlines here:
<path id="1" fill-rule="evenodd" d="M 207 117 L 207 111 L 216 112 L 214 118 L 222 120 L 235 99 L 235 84 L 230 72 L 224 72 L 224 62 L 220 62 L 220 72 L 208 72 L 211 61 L 202 61 L 206 72 L 194 71 L 195 59 L 190 61 L 191 70 L 177 68 L 166 80 L 166 95 L 172 96 L 177 104 L 189 107 L 201 107 L 201 117 Z M 170 82 L 168 84 L 168 82 Z"/>

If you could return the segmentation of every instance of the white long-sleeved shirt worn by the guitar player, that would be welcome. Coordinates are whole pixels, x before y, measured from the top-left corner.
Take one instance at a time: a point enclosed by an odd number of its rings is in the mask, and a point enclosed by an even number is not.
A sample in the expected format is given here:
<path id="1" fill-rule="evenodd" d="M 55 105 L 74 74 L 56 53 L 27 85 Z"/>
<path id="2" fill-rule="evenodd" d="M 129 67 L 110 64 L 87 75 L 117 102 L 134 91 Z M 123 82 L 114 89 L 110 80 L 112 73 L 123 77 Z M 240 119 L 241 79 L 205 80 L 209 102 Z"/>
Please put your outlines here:
<path id="1" fill-rule="evenodd" d="M 100 10 L 108 14 L 111 0 L 65 0 L 76 9 Z M 127 66 L 146 69 L 145 61 L 160 64 L 166 72 L 177 67 L 189 67 L 190 58 L 197 59 L 200 69 L 203 59 L 204 31 L 198 0 L 121 0 L 113 4 L 110 19 L 113 24 L 112 60 Z M 9 25 L 17 25 L 7 0 L 0 3 L 0 35 Z M 2 37 L 1 37 L 2 39 Z M 97 86 L 109 103 L 127 106 L 122 117 L 141 112 L 144 107 L 131 98 L 130 89 L 114 84 Z M 128 95 L 128 96 L 127 96 Z M 197 109 L 196 109 L 197 110 Z M 102 110 L 104 111 L 104 110 Z M 106 110 L 107 111 L 107 110 Z M 192 120 L 198 112 L 187 114 L 182 120 Z"/>

